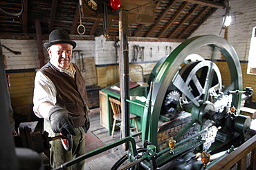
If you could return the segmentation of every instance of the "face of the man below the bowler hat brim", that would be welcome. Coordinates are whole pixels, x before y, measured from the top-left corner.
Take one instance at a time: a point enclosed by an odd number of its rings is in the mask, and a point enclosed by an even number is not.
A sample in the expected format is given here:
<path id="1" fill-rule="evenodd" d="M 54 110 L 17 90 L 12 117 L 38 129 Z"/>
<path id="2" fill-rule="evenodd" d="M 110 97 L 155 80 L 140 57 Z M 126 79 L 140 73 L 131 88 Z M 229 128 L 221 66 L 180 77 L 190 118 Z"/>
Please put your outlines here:
<path id="1" fill-rule="evenodd" d="M 69 43 L 60 43 L 48 47 L 51 63 L 62 69 L 68 69 L 72 59 L 73 46 Z"/>

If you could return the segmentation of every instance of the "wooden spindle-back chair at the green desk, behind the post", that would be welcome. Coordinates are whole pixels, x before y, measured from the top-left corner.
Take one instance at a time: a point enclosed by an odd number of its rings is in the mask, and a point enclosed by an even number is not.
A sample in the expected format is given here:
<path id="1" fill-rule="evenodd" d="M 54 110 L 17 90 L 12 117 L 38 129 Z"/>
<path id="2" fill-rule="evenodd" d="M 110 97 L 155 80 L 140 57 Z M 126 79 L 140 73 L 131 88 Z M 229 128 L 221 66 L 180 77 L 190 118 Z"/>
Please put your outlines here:
<path id="1" fill-rule="evenodd" d="M 117 121 L 122 122 L 121 102 L 111 97 L 109 97 L 109 101 L 110 101 L 111 109 L 113 111 L 113 127 L 112 127 L 112 134 L 111 134 L 111 137 L 113 138 Z M 130 130 L 136 129 L 136 132 L 138 133 L 138 125 L 137 125 L 136 118 L 137 118 L 136 115 L 130 114 L 130 120 L 134 119 L 134 124 L 135 124 L 135 127 L 131 127 Z"/>

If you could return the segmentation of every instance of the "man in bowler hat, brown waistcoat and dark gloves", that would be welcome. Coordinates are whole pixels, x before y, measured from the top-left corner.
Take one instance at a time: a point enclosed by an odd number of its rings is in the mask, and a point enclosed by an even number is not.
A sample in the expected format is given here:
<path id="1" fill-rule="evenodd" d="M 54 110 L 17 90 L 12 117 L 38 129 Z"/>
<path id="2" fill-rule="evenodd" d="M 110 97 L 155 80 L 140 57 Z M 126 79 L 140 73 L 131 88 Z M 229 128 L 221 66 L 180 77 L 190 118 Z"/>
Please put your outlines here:
<path id="1" fill-rule="evenodd" d="M 51 141 L 50 163 L 53 168 L 85 153 L 84 135 L 89 129 L 89 108 L 84 78 L 77 65 L 71 63 L 76 43 L 64 30 L 53 30 L 44 43 L 50 61 L 37 71 L 33 110 L 44 118 L 49 136 L 68 137 Z M 72 139 L 72 140 L 71 140 Z M 84 161 L 68 169 L 84 169 Z"/>

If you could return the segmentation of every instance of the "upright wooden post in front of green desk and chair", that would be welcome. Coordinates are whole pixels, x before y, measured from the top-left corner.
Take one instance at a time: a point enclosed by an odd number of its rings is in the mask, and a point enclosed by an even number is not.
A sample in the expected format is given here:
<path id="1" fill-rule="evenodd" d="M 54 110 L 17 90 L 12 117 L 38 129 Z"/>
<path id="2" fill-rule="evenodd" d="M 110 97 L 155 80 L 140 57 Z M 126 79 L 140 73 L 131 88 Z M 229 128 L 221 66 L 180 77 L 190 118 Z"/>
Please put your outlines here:
<path id="1" fill-rule="evenodd" d="M 120 101 L 122 111 L 122 138 L 129 136 L 129 47 L 128 47 L 128 14 L 126 11 L 119 12 L 119 39 L 120 39 Z M 129 143 L 125 144 L 125 149 L 129 148 Z"/>

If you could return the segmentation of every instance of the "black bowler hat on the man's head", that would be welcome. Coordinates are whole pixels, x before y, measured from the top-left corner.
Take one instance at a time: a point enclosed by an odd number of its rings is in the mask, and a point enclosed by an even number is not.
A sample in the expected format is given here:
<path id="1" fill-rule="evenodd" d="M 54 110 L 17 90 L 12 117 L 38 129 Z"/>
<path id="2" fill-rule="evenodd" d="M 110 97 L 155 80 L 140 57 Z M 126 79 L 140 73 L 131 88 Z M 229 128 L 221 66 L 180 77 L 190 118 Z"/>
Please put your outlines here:
<path id="1" fill-rule="evenodd" d="M 49 42 L 44 43 L 44 47 L 47 49 L 48 47 L 51 47 L 53 44 L 59 44 L 59 43 L 70 43 L 73 46 L 73 49 L 76 46 L 75 41 L 72 41 L 68 33 L 64 30 L 53 30 L 49 36 Z"/>

